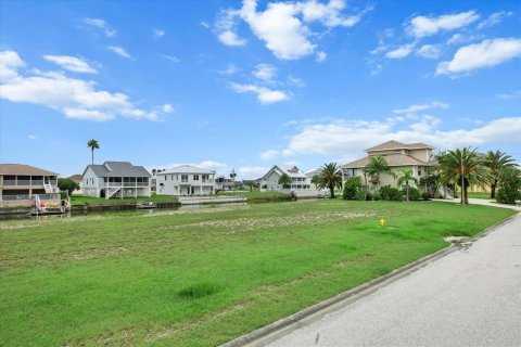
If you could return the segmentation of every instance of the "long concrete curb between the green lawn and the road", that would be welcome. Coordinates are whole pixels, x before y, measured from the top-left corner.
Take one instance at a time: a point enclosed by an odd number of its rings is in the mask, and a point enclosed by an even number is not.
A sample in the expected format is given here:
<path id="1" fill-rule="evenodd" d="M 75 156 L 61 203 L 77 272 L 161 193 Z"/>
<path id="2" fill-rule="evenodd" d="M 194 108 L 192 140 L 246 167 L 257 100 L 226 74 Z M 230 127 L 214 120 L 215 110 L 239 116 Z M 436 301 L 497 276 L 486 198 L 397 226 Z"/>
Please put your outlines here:
<path id="1" fill-rule="evenodd" d="M 481 237 L 486 236 L 492 231 L 497 228 L 510 222 L 510 220 L 521 216 L 521 213 L 512 215 L 507 219 L 501 220 L 500 222 L 491 226 L 483 231 L 479 232 L 474 236 L 470 237 L 469 241 L 474 242 Z M 380 288 L 398 281 L 399 279 L 409 275 L 410 273 L 428 266 L 429 264 L 436 261 L 446 255 L 460 249 L 456 245 L 450 245 L 446 248 L 443 248 L 436 253 L 428 255 L 423 258 L 409 262 L 398 269 L 391 271 L 387 274 L 373 279 L 369 282 L 366 282 L 361 285 L 358 285 L 350 291 L 343 292 L 339 295 L 335 295 L 329 299 L 326 299 L 321 303 L 313 305 L 308 308 L 303 309 L 294 314 L 282 318 L 271 324 L 257 329 L 251 333 L 239 336 L 230 342 L 227 342 L 220 347 L 257 347 L 265 346 L 300 327 L 303 327 L 314 321 L 319 320 L 323 316 L 331 313 L 335 310 L 339 310 L 360 298 L 367 296 L 371 293 L 379 291 Z"/>

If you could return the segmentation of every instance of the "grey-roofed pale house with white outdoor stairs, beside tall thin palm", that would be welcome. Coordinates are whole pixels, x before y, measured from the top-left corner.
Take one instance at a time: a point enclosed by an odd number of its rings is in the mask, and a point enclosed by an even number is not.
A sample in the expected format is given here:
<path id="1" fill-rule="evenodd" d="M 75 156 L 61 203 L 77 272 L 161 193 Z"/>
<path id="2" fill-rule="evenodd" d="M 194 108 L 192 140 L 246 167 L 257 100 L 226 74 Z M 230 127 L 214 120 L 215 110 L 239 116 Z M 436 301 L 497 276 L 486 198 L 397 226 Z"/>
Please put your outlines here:
<path id="1" fill-rule="evenodd" d="M 92 197 L 150 197 L 151 177 L 144 167 L 129 162 L 88 165 L 81 175 L 82 191 L 85 196 Z"/>

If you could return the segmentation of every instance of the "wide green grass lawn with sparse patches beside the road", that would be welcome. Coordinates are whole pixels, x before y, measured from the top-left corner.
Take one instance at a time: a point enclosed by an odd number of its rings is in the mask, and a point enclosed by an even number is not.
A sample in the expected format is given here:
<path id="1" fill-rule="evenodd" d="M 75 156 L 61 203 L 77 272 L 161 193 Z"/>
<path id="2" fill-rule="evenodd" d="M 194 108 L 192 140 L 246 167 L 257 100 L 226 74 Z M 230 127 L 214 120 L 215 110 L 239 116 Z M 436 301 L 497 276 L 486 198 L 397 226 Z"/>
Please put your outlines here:
<path id="1" fill-rule="evenodd" d="M 335 200 L 7 221 L 0 342 L 216 345 L 512 214 Z"/>

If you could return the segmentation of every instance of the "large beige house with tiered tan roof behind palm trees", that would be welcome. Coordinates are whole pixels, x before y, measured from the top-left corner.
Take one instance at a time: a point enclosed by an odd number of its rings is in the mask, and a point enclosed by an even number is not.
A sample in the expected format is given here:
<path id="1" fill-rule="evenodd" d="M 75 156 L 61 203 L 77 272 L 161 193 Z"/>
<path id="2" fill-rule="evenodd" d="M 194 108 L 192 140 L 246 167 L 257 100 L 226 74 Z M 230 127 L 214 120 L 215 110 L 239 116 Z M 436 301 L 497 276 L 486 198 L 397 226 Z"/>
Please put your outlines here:
<path id="1" fill-rule="evenodd" d="M 376 185 L 377 177 L 365 174 L 364 168 L 369 163 L 371 156 L 382 156 L 387 162 L 391 171 L 396 175 L 396 179 L 391 175 L 380 176 L 380 185 L 396 185 L 396 181 L 404 169 L 412 170 L 414 177 L 419 181 L 420 178 L 429 175 L 432 167 L 431 156 L 434 149 L 424 143 L 402 143 L 398 141 L 387 141 L 366 150 L 367 156 L 352 163 L 342 165 L 343 181 L 351 177 L 360 177 L 366 187 Z M 415 182 L 409 182 L 415 187 Z"/>

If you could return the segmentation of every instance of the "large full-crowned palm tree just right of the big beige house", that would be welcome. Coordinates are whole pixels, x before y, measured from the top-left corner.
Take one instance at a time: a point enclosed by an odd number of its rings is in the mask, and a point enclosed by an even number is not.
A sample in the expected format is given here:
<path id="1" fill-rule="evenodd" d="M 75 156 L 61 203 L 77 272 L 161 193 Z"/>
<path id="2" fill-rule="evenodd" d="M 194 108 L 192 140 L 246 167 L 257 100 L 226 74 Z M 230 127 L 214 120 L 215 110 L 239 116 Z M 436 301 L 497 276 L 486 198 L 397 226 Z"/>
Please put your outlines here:
<path id="1" fill-rule="evenodd" d="M 476 150 L 463 147 L 447 151 L 439 155 L 440 182 L 461 187 L 461 204 L 468 204 L 469 184 L 484 187 L 490 182 L 491 174 L 484 166 L 483 157 Z"/>

